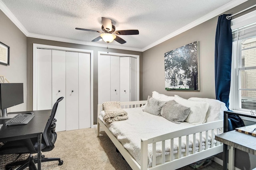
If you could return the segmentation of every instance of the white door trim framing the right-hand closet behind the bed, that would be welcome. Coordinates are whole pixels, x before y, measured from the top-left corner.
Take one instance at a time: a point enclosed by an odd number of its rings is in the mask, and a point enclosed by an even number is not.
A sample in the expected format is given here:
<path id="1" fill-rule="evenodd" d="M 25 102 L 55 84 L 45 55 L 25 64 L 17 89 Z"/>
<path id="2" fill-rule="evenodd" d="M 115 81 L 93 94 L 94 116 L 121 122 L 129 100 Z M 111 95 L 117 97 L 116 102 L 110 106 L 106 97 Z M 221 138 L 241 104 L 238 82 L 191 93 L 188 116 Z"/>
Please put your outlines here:
<path id="1" fill-rule="evenodd" d="M 133 54 L 123 54 L 123 53 L 107 53 L 104 51 L 98 51 L 98 63 L 100 59 L 100 55 L 114 55 L 114 56 L 121 56 L 121 57 L 134 57 L 137 59 L 137 101 L 140 100 L 140 55 L 133 55 Z M 99 65 L 99 64 L 98 64 Z M 98 77 L 99 78 L 99 77 Z M 99 82 L 99 80 L 98 80 Z M 99 89 L 99 87 L 98 87 Z"/>

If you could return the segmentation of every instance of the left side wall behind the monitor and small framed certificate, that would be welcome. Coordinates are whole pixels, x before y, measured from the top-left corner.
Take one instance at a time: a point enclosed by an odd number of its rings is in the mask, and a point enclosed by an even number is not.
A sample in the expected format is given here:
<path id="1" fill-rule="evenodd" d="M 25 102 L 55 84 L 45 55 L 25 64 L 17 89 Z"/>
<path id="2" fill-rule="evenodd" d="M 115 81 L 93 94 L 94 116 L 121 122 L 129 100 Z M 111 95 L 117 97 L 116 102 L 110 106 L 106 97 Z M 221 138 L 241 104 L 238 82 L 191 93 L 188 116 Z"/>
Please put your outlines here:
<path id="1" fill-rule="evenodd" d="M 0 10 L 0 42 L 10 47 L 10 65 L 0 64 L 0 76 L 10 83 L 24 84 L 24 103 L 7 109 L 7 112 L 26 111 L 27 105 L 27 43 L 26 36 Z"/>

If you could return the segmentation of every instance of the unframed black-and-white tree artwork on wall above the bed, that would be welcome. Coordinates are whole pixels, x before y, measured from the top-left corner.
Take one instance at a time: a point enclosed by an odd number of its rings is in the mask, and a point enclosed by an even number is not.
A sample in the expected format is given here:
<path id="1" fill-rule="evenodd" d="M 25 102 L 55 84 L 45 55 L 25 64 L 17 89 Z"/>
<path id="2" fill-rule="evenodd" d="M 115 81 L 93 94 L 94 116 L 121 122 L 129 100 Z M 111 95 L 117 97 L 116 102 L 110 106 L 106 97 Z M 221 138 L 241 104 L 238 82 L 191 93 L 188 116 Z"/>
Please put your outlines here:
<path id="1" fill-rule="evenodd" d="M 200 90 L 198 63 L 198 41 L 165 53 L 165 90 Z"/>

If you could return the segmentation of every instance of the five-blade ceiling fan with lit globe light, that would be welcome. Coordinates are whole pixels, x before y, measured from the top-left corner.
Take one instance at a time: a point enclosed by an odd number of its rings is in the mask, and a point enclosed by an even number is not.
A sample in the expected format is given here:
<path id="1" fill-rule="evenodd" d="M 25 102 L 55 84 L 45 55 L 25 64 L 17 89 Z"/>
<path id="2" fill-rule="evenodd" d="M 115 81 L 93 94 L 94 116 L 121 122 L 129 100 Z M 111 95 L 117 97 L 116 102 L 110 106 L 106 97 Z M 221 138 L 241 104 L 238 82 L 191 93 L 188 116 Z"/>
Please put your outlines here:
<path id="1" fill-rule="evenodd" d="M 93 39 L 92 41 L 99 41 L 103 39 L 106 43 L 111 43 L 113 40 L 117 41 L 120 44 L 126 43 L 124 39 L 121 37 L 118 37 L 117 35 L 138 35 L 139 31 L 138 29 L 127 29 L 127 30 L 119 30 L 116 31 L 115 25 L 112 25 L 112 21 L 109 18 L 102 17 L 102 31 L 97 31 L 93 29 L 84 29 L 84 28 L 76 28 L 83 31 L 93 31 L 102 33 L 99 37 Z"/>

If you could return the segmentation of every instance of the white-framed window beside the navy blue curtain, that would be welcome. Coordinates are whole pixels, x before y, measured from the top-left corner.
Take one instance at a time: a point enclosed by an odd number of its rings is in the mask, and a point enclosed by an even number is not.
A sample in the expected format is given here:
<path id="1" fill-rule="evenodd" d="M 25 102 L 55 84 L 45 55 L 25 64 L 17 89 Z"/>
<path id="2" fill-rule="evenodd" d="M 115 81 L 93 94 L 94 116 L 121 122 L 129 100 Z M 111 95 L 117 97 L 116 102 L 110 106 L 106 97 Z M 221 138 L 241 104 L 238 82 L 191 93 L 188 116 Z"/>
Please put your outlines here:
<path id="1" fill-rule="evenodd" d="M 230 109 L 256 110 L 256 11 L 231 21 L 232 78 Z M 249 16 L 249 17 L 248 17 Z"/>

